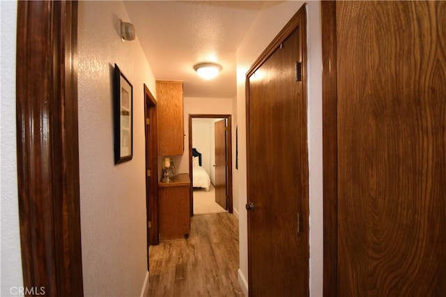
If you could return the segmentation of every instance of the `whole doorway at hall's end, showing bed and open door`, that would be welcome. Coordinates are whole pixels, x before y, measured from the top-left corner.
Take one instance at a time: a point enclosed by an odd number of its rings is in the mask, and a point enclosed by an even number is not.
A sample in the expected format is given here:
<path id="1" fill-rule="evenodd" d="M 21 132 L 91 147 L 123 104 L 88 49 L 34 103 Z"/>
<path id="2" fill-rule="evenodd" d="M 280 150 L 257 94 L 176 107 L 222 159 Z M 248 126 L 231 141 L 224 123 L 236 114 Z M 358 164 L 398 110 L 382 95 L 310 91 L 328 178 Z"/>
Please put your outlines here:
<path id="1" fill-rule="evenodd" d="M 191 216 L 195 214 L 194 207 L 197 214 L 220 211 L 232 214 L 231 115 L 189 116 L 189 161 L 193 185 Z M 194 203 L 194 198 L 202 202 Z"/>

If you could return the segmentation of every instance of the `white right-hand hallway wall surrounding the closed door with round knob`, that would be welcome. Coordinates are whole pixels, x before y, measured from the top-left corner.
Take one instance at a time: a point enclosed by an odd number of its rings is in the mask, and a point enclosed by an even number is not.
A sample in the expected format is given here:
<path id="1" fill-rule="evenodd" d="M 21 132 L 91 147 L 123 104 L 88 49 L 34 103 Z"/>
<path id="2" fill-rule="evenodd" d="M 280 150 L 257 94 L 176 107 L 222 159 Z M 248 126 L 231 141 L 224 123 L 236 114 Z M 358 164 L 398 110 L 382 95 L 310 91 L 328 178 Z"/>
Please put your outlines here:
<path id="1" fill-rule="evenodd" d="M 247 282 L 247 198 L 245 74 L 304 1 L 286 1 L 269 6 L 256 17 L 237 51 L 238 168 L 234 181 L 239 197 L 240 269 L 239 281 Z M 323 289 L 323 198 L 322 198 L 322 59 L 321 3 L 307 3 L 308 27 L 308 142 L 309 142 L 309 243 L 310 295 L 322 296 Z"/>

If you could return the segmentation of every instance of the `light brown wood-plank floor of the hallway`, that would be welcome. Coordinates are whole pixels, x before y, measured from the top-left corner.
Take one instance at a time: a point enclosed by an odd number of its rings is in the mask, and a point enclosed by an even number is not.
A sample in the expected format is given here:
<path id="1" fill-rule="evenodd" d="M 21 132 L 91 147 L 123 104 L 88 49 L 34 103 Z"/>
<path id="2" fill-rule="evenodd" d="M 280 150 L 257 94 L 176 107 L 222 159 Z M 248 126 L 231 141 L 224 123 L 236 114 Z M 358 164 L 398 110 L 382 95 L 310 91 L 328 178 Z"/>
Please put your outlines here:
<path id="1" fill-rule="evenodd" d="M 189 239 L 160 243 L 149 251 L 147 296 L 243 296 L 233 214 L 195 215 Z"/>

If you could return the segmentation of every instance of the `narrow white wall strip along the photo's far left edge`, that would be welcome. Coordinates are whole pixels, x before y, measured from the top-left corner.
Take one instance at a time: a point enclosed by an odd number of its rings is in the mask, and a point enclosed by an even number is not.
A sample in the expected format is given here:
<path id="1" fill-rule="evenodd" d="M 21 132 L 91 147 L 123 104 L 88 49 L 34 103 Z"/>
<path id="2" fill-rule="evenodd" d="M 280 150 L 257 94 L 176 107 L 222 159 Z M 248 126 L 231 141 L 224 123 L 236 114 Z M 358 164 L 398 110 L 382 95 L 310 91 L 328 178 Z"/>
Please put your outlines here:
<path id="1" fill-rule="evenodd" d="M 17 194 L 17 149 L 15 130 L 15 45 L 17 1 L 0 1 L 1 26 L 1 291 L 22 287 L 19 207 Z M 14 288 L 13 288 L 14 289 Z M 15 293 L 15 291 L 13 291 Z"/>

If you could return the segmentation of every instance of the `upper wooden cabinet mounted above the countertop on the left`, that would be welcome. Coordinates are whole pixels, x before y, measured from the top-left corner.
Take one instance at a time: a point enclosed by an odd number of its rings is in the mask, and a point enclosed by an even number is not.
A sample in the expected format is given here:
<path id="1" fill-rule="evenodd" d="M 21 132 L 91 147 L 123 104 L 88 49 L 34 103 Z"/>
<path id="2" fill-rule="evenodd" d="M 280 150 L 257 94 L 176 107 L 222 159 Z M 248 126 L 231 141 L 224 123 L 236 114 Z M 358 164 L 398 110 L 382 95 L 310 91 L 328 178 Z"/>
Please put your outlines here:
<path id="1" fill-rule="evenodd" d="M 156 81 L 158 154 L 184 153 L 183 81 Z"/>

